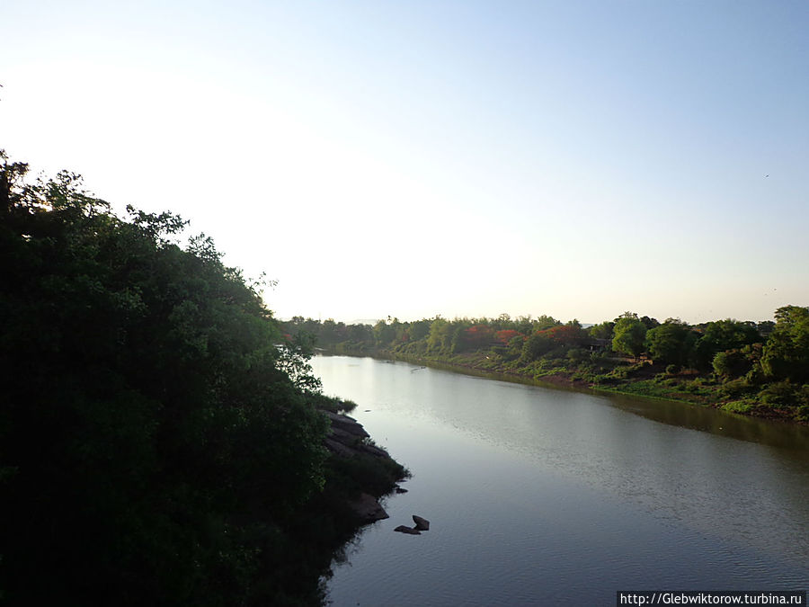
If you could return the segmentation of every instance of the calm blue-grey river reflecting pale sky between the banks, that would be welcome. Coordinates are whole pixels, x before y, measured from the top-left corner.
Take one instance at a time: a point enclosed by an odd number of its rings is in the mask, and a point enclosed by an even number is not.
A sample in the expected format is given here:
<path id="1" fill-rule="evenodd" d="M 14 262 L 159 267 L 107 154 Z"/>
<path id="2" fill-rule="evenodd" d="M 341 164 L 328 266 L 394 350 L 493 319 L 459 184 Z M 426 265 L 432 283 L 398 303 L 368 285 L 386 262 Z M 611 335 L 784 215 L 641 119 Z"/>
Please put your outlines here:
<path id="1" fill-rule="evenodd" d="M 334 605 L 610 605 L 809 580 L 807 428 L 405 362 L 313 367 L 413 472 L 334 565 Z M 431 531 L 395 533 L 412 514 Z"/>

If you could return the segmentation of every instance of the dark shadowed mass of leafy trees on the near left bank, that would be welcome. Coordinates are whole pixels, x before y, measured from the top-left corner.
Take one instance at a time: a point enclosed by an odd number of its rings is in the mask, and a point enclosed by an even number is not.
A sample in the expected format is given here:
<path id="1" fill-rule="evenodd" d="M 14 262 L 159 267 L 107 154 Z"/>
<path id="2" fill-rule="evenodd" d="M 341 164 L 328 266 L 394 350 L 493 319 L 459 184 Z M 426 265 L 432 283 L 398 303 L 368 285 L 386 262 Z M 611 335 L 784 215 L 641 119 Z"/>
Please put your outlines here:
<path id="1" fill-rule="evenodd" d="M 305 344 L 181 219 L 0 160 L 0 594 L 316 603 L 346 529 Z"/>

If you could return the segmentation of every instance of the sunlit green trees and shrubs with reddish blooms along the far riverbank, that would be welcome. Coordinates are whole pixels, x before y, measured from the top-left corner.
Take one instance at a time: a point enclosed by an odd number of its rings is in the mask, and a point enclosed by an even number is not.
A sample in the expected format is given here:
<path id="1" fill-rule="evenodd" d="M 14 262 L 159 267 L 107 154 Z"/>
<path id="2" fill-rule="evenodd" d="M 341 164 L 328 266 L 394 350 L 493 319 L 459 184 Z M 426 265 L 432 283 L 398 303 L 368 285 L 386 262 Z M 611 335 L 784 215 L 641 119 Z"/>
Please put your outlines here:
<path id="1" fill-rule="evenodd" d="M 335 353 L 449 362 L 809 422 L 809 308 L 778 308 L 775 317 L 690 326 L 627 312 L 587 329 L 575 320 L 507 314 L 388 317 L 375 326 L 294 317 L 282 325 Z"/>

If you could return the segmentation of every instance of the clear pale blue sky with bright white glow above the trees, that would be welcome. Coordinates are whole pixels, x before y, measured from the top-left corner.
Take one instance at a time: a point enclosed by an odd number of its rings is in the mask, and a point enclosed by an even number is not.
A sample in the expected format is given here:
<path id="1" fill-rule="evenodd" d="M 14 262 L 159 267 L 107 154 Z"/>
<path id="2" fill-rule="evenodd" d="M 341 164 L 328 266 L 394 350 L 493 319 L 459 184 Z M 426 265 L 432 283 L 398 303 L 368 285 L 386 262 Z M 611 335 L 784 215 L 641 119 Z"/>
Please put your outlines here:
<path id="1" fill-rule="evenodd" d="M 5 3 L 0 148 L 280 318 L 809 305 L 809 2 Z"/>

